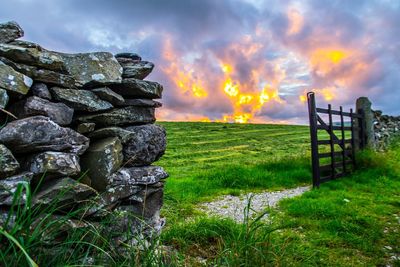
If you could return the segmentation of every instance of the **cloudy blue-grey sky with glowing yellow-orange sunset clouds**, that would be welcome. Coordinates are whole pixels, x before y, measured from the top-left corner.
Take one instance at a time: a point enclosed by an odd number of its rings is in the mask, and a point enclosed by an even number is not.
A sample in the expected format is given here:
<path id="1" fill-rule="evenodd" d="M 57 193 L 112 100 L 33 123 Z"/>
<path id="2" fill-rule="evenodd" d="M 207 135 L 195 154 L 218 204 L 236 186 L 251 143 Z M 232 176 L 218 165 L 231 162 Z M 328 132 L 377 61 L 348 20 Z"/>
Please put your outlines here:
<path id="1" fill-rule="evenodd" d="M 159 120 L 307 122 L 318 106 L 400 115 L 399 0 L 0 0 L 0 21 L 62 52 L 135 52 Z"/>

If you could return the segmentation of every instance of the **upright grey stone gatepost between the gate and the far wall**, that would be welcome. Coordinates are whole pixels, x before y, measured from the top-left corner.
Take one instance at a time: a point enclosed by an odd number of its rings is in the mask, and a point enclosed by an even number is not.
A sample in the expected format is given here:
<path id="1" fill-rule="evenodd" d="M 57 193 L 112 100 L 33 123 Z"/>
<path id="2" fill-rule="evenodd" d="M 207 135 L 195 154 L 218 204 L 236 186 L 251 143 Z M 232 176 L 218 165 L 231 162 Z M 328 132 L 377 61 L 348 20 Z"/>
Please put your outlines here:
<path id="1" fill-rule="evenodd" d="M 364 125 L 360 125 L 360 120 L 357 120 L 357 126 L 362 127 L 363 131 L 362 135 L 360 138 L 363 138 L 359 140 L 359 142 L 356 142 L 356 149 L 360 149 L 360 143 L 364 143 L 367 148 L 375 148 L 375 133 L 374 133 L 374 114 L 371 109 L 371 101 L 367 97 L 360 97 L 356 101 L 356 110 L 358 113 L 363 114 L 363 119 L 362 123 Z M 363 140 L 365 140 L 363 142 Z"/>

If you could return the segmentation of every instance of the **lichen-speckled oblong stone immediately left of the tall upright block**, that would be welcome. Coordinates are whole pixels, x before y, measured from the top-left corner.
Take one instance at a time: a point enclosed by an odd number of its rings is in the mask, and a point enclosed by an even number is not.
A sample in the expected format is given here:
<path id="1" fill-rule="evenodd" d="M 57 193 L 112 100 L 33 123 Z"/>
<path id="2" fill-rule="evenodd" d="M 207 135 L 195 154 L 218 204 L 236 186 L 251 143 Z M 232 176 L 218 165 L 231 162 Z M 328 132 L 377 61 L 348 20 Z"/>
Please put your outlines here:
<path id="1" fill-rule="evenodd" d="M 28 171 L 34 174 L 74 176 L 81 171 L 79 157 L 74 153 L 47 151 L 32 156 L 27 162 Z"/>

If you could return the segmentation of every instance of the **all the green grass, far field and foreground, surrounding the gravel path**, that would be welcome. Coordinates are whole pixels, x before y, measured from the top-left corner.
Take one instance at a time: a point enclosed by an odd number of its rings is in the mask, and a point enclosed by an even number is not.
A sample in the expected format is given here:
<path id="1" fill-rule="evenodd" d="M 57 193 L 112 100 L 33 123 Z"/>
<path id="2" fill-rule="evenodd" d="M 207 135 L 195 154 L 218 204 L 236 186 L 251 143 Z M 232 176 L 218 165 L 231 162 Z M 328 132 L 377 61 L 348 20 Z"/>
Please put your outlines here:
<path id="1" fill-rule="evenodd" d="M 168 134 L 166 154 L 155 163 L 170 174 L 167 224 L 149 247 L 121 256 L 96 224 L 73 231 L 48 255 L 43 237 L 64 234 L 63 221 L 41 218 L 42 227 L 30 232 L 38 215 L 17 206 L 15 226 L 0 225 L 0 265 L 87 266 L 90 259 L 97 266 L 400 266 L 400 140 L 385 153 L 359 153 L 349 176 L 266 209 L 270 220 L 237 224 L 196 207 L 223 194 L 311 185 L 308 127 L 159 124 Z"/>

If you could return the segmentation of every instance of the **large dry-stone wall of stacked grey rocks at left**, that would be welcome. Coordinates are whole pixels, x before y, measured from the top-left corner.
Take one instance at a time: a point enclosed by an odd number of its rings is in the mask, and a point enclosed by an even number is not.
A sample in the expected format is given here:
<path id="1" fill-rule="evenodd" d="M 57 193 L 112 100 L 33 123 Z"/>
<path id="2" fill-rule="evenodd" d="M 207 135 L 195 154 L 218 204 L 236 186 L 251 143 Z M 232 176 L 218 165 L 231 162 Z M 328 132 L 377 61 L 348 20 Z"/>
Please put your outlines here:
<path id="1" fill-rule="evenodd" d="M 168 175 L 151 166 L 166 148 L 154 124 L 163 87 L 143 80 L 153 63 L 53 52 L 22 36 L 17 23 L 0 24 L 0 210 L 26 182 L 38 187 L 34 206 L 58 201 L 85 220 L 119 216 L 114 227 L 125 232 L 128 217 L 159 228 Z"/>

